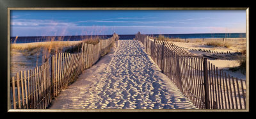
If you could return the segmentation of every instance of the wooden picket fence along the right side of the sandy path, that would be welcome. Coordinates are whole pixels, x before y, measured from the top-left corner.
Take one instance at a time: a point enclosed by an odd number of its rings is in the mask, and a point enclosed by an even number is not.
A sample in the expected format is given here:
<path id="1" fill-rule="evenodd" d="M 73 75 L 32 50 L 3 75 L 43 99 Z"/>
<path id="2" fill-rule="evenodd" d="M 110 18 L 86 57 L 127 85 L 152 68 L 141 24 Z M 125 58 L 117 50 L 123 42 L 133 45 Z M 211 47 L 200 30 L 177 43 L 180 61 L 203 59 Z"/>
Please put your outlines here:
<path id="1" fill-rule="evenodd" d="M 218 70 L 207 58 L 195 56 L 170 42 L 138 33 L 136 40 L 164 74 L 199 109 L 245 109 L 245 81 Z"/>

